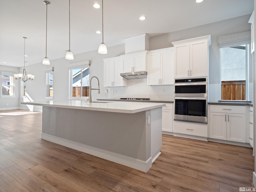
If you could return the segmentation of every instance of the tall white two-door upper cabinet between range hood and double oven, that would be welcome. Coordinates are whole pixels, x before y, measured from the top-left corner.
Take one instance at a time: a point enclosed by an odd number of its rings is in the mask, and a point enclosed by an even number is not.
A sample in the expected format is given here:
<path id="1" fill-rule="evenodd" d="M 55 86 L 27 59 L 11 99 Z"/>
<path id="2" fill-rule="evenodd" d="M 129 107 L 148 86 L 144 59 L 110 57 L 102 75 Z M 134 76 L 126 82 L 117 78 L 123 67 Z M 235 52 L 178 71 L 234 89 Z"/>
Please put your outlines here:
<path id="1" fill-rule="evenodd" d="M 148 52 L 148 85 L 171 85 L 174 83 L 174 48 Z"/>

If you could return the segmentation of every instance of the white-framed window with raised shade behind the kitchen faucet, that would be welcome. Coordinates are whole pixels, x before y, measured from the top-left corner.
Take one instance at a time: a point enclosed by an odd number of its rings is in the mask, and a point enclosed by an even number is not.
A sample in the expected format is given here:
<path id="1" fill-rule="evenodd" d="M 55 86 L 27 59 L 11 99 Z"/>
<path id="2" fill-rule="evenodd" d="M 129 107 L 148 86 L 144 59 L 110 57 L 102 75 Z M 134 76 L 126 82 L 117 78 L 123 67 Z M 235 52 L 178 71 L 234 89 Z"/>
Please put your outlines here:
<path id="1" fill-rule="evenodd" d="M 90 61 L 68 64 L 68 69 L 70 97 L 88 97 L 90 84 Z"/>

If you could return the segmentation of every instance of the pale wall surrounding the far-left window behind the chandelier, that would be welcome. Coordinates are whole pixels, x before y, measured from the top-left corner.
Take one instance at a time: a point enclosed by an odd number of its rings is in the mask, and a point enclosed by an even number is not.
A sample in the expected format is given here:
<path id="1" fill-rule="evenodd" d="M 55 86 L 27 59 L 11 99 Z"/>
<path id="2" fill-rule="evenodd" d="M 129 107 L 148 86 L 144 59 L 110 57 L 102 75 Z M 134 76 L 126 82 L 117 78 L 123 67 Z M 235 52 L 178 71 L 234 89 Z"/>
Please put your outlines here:
<path id="1" fill-rule="evenodd" d="M 13 74 L 17 74 L 17 73 L 20 73 L 20 68 L 0 65 L 0 71 L 13 72 Z M 14 81 L 15 81 L 14 82 L 15 97 L 13 97 L 13 98 L 1 98 L 0 97 L 0 110 L 18 109 L 18 107 L 19 107 L 20 80 L 14 80 Z"/>

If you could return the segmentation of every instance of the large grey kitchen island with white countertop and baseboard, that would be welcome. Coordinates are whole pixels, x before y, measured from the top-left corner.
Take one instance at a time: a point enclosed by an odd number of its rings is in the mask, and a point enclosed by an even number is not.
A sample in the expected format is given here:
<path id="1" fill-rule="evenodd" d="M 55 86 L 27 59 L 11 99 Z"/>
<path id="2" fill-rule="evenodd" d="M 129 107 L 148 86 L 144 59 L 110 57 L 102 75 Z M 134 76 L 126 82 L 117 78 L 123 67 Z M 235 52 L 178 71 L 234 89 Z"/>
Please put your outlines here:
<path id="1" fill-rule="evenodd" d="M 143 172 L 160 155 L 165 104 L 83 100 L 21 104 L 42 106 L 44 140 Z"/>

